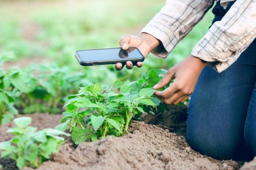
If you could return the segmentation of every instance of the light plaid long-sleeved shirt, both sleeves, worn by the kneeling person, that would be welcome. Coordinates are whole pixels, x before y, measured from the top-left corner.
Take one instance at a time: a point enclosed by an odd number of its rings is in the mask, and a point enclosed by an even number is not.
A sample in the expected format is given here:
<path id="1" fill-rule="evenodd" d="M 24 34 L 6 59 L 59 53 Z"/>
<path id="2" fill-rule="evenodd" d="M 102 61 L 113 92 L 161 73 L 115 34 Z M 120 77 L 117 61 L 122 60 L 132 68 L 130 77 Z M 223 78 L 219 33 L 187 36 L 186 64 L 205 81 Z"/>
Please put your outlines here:
<path id="1" fill-rule="evenodd" d="M 218 1 L 218 0 L 217 0 Z M 226 8 L 229 1 L 220 0 Z M 214 0 L 167 0 L 141 32 L 161 41 L 151 51 L 166 58 L 203 18 Z M 237 0 L 221 21 L 215 22 L 193 48 L 192 55 L 211 62 L 221 72 L 234 63 L 256 37 L 256 0 Z"/>

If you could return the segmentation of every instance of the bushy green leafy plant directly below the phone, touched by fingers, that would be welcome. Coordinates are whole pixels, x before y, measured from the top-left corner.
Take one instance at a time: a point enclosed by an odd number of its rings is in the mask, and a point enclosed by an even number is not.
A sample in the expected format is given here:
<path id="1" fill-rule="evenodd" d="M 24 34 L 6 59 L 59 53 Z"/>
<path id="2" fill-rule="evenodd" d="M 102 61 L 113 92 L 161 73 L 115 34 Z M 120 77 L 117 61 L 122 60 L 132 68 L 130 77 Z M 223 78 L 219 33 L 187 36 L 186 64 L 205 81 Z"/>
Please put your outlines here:
<path id="1" fill-rule="evenodd" d="M 80 88 L 77 95 L 68 97 L 66 111 L 58 130 L 70 127 L 75 144 L 95 141 L 106 135 L 123 136 L 128 133 L 132 117 L 141 116 L 143 105 L 155 106 L 153 88 L 142 88 L 138 92 L 124 89 L 126 78 L 118 78 L 110 88 L 99 83 Z M 116 93 L 117 89 L 122 93 Z"/>

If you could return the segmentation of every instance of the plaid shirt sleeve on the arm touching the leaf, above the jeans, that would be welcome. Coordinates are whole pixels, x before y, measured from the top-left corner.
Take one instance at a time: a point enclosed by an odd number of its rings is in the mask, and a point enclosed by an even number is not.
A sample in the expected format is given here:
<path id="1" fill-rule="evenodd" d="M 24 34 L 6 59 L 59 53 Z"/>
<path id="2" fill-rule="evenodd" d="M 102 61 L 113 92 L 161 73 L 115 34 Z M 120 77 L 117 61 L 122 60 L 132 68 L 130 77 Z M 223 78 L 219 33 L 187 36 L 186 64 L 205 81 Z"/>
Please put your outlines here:
<path id="1" fill-rule="evenodd" d="M 218 72 L 227 69 L 256 37 L 256 1 L 237 0 L 193 48 L 192 55 L 211 62 Z"/>

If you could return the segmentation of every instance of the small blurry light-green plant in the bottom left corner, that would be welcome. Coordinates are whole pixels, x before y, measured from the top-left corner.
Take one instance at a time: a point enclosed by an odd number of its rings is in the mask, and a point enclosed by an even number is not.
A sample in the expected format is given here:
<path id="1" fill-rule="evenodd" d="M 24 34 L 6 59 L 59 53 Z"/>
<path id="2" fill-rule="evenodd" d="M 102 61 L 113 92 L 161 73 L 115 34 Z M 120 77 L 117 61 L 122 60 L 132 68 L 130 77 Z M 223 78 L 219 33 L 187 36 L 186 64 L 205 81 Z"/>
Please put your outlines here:
<path id="1" fill-rule="evenodd" d="M 14 119 L 17 127 L 7 130 L 8 133 L 14 134 L 14 137 L 0 143 L 0 149 L 3 150 L 1 157 L 10 156 L 16 161 L 18 169 L 24 166 L 38 167 L 43 161 L 49 159 L 52 153 L 57 152 L 64 142 L 64 138 L 59 135 L 70 136 L 56 129 L 36 132 L 36 127 L 29 126 L 31 121 L 29 117 Z"/>

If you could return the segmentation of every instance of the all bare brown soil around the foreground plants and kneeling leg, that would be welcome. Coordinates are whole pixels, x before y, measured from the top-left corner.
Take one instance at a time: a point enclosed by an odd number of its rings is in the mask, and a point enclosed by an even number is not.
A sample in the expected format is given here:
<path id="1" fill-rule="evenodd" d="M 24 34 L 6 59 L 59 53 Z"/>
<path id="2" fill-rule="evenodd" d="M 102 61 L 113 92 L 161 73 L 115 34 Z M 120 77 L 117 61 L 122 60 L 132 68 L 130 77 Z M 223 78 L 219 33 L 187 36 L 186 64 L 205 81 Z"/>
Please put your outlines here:
<path id="1" fill-rule="evenodd" d="M 133 121 L 129 134 L 124 137 L 107 136 L 94 143 L 74 145 L 70 138 L 57 154 L 44 162 L 39 170 L 234 170 L 241 164 L 232 160 L 220 161 L 193 151 L 186 143 L 184 132 L 186 107 L 171 106 L 170 111 L 159 115 L 146 115 L 145 122 Z M 166 115 L 167 114 L 167 115 Z M 175 115 L 174 115 L 175 114 Z M 182 116 L 183 115 L 183 116 Z M 43 129 L 55 127 L 62 115 L 33 114 L 33 126 Z M 168 118 L 170 118 L 168 120 Z M 50 120 L 50 121 L 49 121 Z M 160 121 L 162 120 L 162 121 Z M 8 140 L 6 129 L 13 123 L 0 126 L 1 140 Z M 163 128 L 157 127 L 161 126 Z M 169 132 L 177 132 L 170 133 Z M 5 169 L 15 169 L 15 162 L 0 160 Z M 256 167 L 255 160 L 245 163 L 241 169 L 251 170 Z M 32 170 L 25 167 L 24 170 Z"/>

